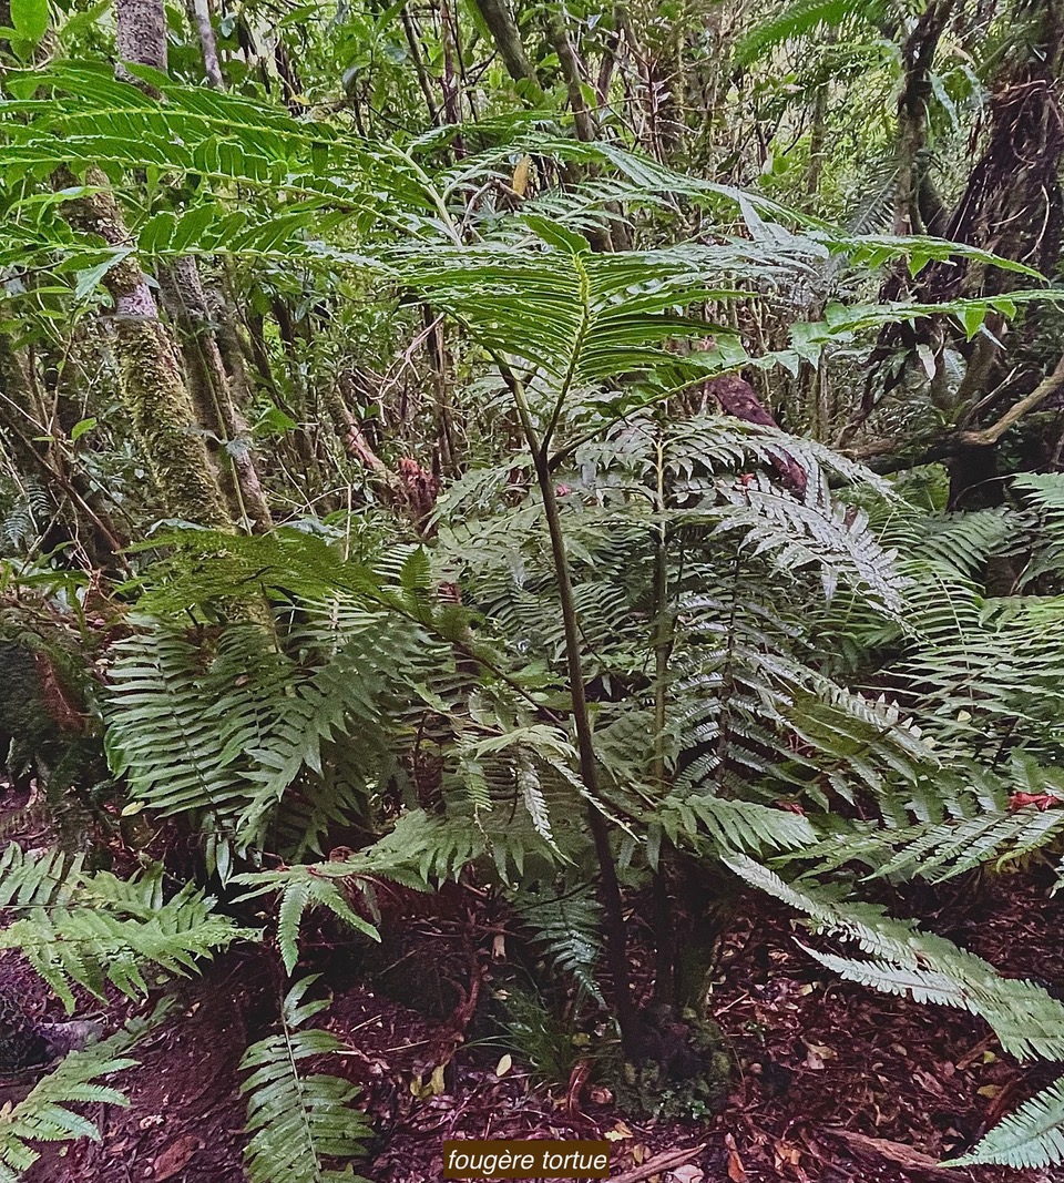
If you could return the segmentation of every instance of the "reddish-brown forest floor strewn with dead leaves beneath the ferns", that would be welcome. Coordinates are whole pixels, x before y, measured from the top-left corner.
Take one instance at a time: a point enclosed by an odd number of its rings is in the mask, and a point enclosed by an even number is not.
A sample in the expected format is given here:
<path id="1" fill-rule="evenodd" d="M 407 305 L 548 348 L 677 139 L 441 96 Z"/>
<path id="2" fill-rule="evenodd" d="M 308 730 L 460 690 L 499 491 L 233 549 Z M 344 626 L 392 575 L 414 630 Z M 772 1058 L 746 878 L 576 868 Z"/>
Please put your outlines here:
<path id="1" fill-rule="evenodd" d="M 935 931 L 1004 972 L 1064 984 L 1064 899 L 1047 898 L 1032 877 L 969 884 L 946 903 L 910 897 L 895 911 L 911 914 L 921 903 Z M 498 1040 L 460 1040 L 450 1019 L 427 1019 L 395 990 L 371 989 L 353 958 L 325 950 L 311 967 L 325 970 L 333 994 L 320 1022 L 346 1051 L 323 1068 L 362 1086 L 378 1131 L 361 1174 L 372 1183 L 435 1183 L 445 1138 L 578 1137 L 611 1142 L 615 1183 L 1064 1183 L 1064 1168 L 935 1165 L 1058 1068 L 1018 1066 L 972 1015 L 829 978 L 798 946 L 802 935 L 767 901 L 752 901 L 729 933 L 712 1011 L 734 1059 L 731 1094 L 724 1112 L 699 1123 L 632 1118 L 593 1079 L 533 1085 L 517 1054 L 506 1064 Z M 465 974 L 467 984 L 479 977 L 482 996 L 500 972 L 498 924 L 475 907 L 463 924 L 409 920 L 406 949 L 408 990 L 420 989 L 419 958 Z M 637 936 L 637 978 L 650 957 Z M 140 1066 L 117 1081 L 130 1106 L 90 1107 L 100 1142 L 45 1148 L 27 1183 L 242 1183 L 238 1065 L 277 1013 L 283 982 L 272 965 L 259 948 L 238 949 L 182 982 L 171 1016 L 134 1052 Z M 18 953 L 0 955 L 0 993 L 35 1019 L 64 1017 Z M 86 1000 L 82 1017 L 110 1029 L 131 1009 L 147 1006 Z M 0 1085 L 0 1103 L 27 1087 Z"/>

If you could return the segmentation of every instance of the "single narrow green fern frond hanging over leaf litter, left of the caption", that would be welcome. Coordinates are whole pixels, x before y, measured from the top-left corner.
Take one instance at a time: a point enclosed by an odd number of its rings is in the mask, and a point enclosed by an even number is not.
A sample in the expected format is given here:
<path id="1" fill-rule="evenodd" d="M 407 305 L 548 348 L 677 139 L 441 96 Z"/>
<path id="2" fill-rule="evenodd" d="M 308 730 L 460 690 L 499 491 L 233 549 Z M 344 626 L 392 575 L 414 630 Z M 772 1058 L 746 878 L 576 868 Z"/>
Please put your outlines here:
<path id="1" fill-rule="evenodd" d="M 249 1075 L 240 1086 L 247 1098 L 245 1168 L 251 1183 L 356 1183 L 350 1166 L 323 1161 L 357 1158 L 372 1136 L 369 1118 L 352 1106 L 357 1086 L 339 1077 L 305 1072 L 304 1061 L 344 1045 L 329 1032 L 304 1028 L 329 1000 L 303 1002 L 318 975 L 300 978 L 281 1003 L 279 1030 L 253 1043 L 240 1061 Z M 301 1029 L 303 1028 L 303 1029 Z M 362 1179 L 361 1183 L 366 1183 Z"/>

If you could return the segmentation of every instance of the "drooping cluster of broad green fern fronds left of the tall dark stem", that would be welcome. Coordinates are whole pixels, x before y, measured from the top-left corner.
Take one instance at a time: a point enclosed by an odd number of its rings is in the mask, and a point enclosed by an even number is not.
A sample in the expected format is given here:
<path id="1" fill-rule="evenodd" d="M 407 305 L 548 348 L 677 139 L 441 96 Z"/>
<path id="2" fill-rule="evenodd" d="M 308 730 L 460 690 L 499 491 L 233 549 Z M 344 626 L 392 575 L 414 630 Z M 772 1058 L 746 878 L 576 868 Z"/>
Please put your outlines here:
<path id="1" fill-rule="evenodd" d="M 258 625 L 215 641 L 145 621 L 122 642 L 108 745 L 135 800 L 200 814 L 239 849 L 273 833 L 288 854 L 319 849 L 331 823 L 364 809 L 419 633 L 357 601 L 305 609 L 290 652 Z"/>

